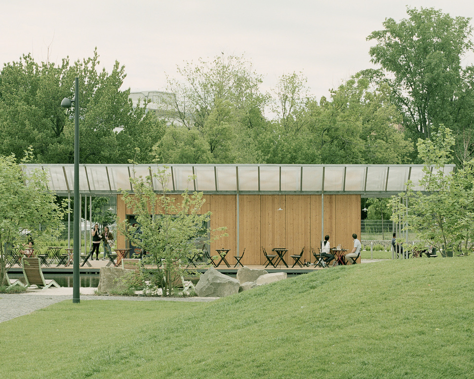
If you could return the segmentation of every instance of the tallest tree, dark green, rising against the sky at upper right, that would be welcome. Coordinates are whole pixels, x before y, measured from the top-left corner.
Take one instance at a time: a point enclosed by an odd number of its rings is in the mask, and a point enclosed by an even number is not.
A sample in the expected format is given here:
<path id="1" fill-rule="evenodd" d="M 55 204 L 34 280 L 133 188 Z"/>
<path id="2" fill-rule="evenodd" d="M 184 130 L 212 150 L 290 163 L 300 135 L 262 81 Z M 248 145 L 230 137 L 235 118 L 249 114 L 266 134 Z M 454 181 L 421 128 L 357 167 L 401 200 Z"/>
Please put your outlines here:
<path id="1" fill-rule="evenodd" d="M 405 129 L 414 139 L 431 138 L 439 124 L 454 126 L 458 99 L 464 99 L 465 90 L 472 92 L 463 88 L 461 67 L 473 48 L 472 26 L 469 18 L 452 18 L 434 8 L 407 7 L 407 14 L 398 23 L 386 19 L 385 29 L 367 37 L 377 42 L 370 55 L 382 66 L 379 78 L 392 89 Z"/>

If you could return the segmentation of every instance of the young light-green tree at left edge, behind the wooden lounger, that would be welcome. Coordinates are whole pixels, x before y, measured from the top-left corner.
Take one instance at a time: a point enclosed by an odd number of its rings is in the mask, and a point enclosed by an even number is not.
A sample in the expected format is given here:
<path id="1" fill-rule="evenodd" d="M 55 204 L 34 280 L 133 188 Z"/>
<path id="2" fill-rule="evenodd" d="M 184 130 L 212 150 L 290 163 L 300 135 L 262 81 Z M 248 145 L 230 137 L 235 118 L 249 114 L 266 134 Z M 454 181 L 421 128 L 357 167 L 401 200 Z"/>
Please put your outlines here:
<path id="1" fill-rule="evenodd" d="M 28 151 L 26 157 L 30 156 Z M 58 236 L 64 228 L 64 209 L 48 189 L 42 170 L 27 173 L 14 155 L 0 156 L 0 285 L 6 283 L 6 256 L 21 233 L 35 230 L 36 241 Z"/>

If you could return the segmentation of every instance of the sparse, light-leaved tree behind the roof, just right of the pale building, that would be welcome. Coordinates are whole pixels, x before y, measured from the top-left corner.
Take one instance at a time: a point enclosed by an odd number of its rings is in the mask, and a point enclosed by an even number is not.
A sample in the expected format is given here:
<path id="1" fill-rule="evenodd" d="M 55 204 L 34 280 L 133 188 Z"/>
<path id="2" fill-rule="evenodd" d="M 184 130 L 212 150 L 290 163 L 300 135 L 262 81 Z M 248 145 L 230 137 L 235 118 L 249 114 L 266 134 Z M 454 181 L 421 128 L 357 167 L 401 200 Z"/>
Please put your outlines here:
<path id="1" fill-rule="evenodd" d="M 173 96 L 168 99 L 167 117 L 175 127 L 196 129 L 207 142 L 212 163 L 258 159 L 251 143 L 251 122 L 263 109 L 266 97 L 259 91 L 262 77 L 253 71 L 250 62 L 243 56 L 219 55 L 210 62 L 187 62 L 178 67 L 178 74 L 182 82 L 168 77 L 168 91 Z M 193 149 L 194 141 L 195 137 L 188 140 L 191 145 L 185 142 L 183 146 Z M 166 146 L 172 145 L 160 148 Z"/>

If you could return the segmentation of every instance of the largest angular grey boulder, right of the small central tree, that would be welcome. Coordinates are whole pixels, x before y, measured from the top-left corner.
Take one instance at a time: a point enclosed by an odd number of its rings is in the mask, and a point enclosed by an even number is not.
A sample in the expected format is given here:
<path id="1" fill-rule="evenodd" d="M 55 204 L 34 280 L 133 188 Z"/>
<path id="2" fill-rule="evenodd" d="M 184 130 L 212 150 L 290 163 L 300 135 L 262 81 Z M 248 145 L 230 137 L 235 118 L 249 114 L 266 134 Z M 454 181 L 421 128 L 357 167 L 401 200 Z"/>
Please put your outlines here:
<path id="1" fill-rule="evenodd" d="M 195 291 L 200 298 L 223 298 L 238 293 L 240 282 L 224 275 L 214 267 L 204 272 L 197 282 Z"/>

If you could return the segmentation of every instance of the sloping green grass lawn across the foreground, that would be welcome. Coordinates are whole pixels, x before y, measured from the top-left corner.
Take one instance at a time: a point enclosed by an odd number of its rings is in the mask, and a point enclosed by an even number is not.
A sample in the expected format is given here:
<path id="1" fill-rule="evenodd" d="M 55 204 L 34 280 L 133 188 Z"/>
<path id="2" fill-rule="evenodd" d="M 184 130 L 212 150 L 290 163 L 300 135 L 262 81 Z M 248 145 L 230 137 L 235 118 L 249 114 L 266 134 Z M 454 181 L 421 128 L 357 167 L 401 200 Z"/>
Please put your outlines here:
<path id="1" fill-rule="evenodd" d="M 66 301 L 0 324 L 0 373 L 472 378 L 473 282 L 472 257 L 422 258 L 317 270 L 212 303 Z"/>

